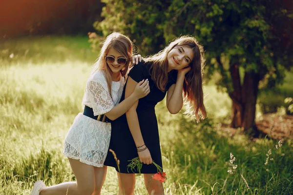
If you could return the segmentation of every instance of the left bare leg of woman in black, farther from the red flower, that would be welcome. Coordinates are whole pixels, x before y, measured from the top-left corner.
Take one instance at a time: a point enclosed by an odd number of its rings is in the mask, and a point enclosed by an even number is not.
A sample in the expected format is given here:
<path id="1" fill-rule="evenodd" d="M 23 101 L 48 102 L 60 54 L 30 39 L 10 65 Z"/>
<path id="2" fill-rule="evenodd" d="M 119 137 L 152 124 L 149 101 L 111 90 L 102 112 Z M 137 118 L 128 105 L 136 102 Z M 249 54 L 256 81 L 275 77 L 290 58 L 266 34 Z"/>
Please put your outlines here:
<path id="1" fill-rule="evenodd" d="M 134 195 L 135 175 L 118 173 L 119 192 L 118 195 Z"/>

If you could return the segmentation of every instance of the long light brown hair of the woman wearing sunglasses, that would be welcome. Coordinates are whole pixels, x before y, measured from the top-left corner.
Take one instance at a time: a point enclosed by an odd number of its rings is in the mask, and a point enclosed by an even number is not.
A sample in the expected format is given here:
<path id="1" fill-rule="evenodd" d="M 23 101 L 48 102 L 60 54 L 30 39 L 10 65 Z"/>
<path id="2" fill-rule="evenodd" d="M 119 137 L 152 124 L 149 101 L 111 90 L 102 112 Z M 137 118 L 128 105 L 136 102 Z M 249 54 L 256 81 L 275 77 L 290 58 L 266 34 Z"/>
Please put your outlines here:
<path id="1" fill-rule="evenodd" d="M 115 49 L 117 52 L 119 52 L 123 57 L 127 59 L 125 66 L 120 71 L 121 76 L 124 77 L 127 73 L 127 70 L 130 64 L 130 57 L 132 56 L 133 43 L 128 37 L 126 37 L 125 35 L 122 35 L 121 33 L 115 32 L 108 35 L 105 41 L 103 42 L 100 56 L 97 59 L 96 63 L 94 64 L 92 74 L 96 72 L 97 70 L 105 70 L 107 86 L 109 89 L 110 96 L 112 97 L 112 93 L 111 93 L 112 71 L 107 65 L 107 62 L 105 60 L 105 56 L 108 53 L 110 48 Z"/>

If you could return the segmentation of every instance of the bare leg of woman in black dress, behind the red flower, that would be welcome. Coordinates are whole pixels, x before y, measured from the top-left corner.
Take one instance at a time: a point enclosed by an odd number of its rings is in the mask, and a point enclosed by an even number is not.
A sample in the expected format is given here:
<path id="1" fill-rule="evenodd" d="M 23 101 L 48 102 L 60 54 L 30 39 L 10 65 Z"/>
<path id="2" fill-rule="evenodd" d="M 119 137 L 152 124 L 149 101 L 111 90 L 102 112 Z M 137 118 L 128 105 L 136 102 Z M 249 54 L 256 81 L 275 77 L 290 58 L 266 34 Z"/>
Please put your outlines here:
<path id="1" fill-rule="evenodd" d="M 154 174 L 144 174 L 146 190 L 149 195 L 165 195 L 163 184 L 152 178 Z"/>

